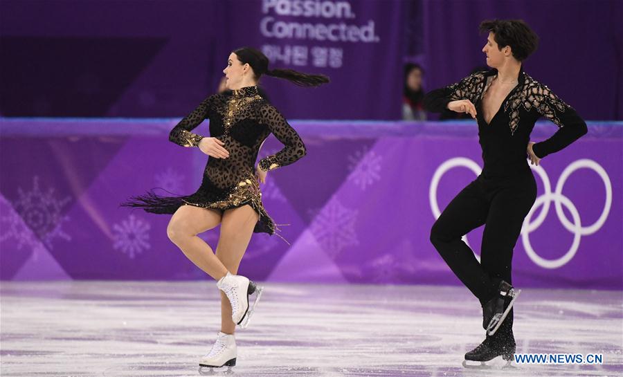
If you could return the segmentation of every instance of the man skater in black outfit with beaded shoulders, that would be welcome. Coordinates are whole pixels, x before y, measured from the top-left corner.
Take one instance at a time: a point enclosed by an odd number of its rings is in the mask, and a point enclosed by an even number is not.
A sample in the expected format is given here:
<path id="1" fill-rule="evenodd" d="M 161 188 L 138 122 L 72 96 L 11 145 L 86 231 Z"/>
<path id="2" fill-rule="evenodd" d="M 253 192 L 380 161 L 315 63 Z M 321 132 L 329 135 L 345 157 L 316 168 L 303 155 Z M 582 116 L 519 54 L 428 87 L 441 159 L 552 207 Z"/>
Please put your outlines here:
<path id="1" fill-rule="evenodd" d="M 538 37 L 521 20 L 483 21 L 489 32 L 482 52 L 491 70 L 474 73 L 458 84 L 428 93 L 431 111 L 468 113 L 478 122 L 485 166 L 446 207 L 431 230 L 431 242 L 451 270 L 478 297 L 485 341 L 465 360 L 485 362 L 503 356 L 512 360 L 515 340 L 511 285 L 513 248 L 523 219 L 536 199 L 536 182 L 527 164 L 567 147 L 586 134 L 586 123 L 545 85 L 523 72 L 522 62 L 536 50 Z M 541 116 L 558 131 L 548 140 L 531 142 Z M 485 225 L 480 263 L 461 240 Z M 465 365 L 465 362 L 464 362 Z"/>

